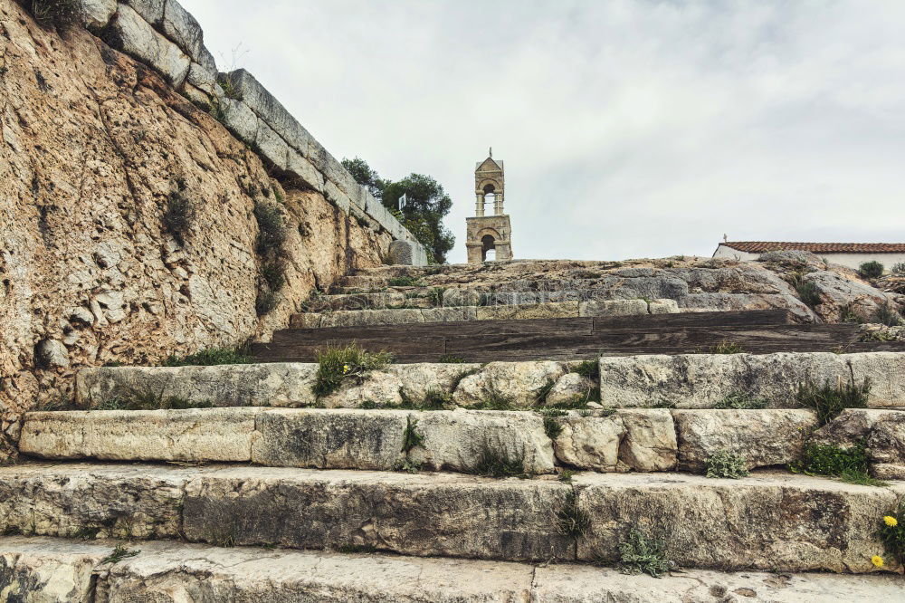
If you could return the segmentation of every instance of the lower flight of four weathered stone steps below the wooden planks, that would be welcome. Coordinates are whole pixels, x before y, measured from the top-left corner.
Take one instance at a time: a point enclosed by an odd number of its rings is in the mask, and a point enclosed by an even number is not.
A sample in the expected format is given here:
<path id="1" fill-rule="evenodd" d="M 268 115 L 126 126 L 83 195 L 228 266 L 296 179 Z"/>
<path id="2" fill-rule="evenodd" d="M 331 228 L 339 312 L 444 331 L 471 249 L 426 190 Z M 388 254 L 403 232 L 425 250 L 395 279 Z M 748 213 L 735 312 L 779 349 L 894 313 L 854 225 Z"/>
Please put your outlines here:
<path id="1" fill-rule="evenodd" d="M 390 364 L 320 396 L 318 372 L 304 363 L 82 370 L 77 405 L 94 409 L 27 414 L 25 458 L 0 468 L 0 598 L 901 592 L 902 570 L 877 530 L 905 499 L 905 354 Z M 796 404 L 805 380 L 843 379 L 872 384 L 866 407 L 821 425 Z M 721 407 L 739 392 L 766 407 Z M 103 409 L 149 397 L 182 408 Z M 814 444 L 862 446 L 886 482 L 790 472 Z M 726 453 L 743 456 L 750 474 L 704 476 Z M 616 569 L 633 531 L 662 541 L 675 564 L 664 578 Z"/>

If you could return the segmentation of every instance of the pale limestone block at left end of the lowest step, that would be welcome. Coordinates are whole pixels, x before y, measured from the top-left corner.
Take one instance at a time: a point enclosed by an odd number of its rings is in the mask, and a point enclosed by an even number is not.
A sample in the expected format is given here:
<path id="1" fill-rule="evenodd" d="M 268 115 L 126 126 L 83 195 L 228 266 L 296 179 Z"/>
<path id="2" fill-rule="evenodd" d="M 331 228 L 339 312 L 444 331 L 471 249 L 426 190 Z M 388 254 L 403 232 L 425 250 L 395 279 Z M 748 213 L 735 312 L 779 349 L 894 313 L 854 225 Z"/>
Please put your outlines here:
<path id="1" fill-rule="evenodd" d="M 0 541 L 0 600 L 10 603 L 92 601 L 93 570 L 112 550 L 112 545 L 71 547 L 67 541 L 48 538 L 3 539 Z"/>

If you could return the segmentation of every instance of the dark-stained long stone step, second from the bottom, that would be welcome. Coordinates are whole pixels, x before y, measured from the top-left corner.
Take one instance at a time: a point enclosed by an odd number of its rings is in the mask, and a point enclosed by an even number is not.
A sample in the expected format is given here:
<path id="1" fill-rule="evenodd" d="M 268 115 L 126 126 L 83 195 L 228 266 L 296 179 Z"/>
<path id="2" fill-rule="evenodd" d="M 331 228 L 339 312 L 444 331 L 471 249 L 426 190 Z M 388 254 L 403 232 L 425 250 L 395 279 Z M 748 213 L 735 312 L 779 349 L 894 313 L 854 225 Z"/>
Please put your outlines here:
<path id="1" fill-rule="evenodd" d="M 0 532 L 129 537 L 419 557 L 614 563 L 638 529 L 680 567 L 868 573 L 887 487 L 757 472 L 491 479 L 206 465 L 0 468 Z M 567 529 L 565 526 L 576 526 Z M 899 570 L 888 560 L 888 570 Z"/>

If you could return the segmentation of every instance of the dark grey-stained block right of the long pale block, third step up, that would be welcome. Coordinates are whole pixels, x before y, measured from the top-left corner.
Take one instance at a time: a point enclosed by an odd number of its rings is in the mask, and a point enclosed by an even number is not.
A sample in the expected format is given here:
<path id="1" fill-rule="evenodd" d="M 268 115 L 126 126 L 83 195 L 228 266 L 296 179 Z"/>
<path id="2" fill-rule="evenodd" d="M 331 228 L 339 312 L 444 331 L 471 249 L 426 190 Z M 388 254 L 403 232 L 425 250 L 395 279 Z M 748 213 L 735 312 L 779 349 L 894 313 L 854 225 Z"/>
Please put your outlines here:
<path id="1" fill-rule="evenodd" d="M 393 470 L 404 458 L 402 410 L 271 410 L 257 417 L 252 463 Z"/>

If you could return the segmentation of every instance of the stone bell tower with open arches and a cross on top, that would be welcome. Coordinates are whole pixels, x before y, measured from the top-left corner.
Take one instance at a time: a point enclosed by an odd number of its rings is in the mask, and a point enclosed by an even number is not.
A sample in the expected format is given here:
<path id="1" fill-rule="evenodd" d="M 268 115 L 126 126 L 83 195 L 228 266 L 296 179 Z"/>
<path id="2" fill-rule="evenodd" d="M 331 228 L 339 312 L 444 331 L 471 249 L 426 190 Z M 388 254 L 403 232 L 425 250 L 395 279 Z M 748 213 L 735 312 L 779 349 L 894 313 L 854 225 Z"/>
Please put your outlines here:
<path id="1" fill-rule="evenodd" d="M 479 161 L 474 170 L 474 194 L 477 203 L 474 217 L 465 218 L 467 234 L 465 246 L 468 248 L 468 263 L 481 263 L 488 259 L 512 259 L 512 228 L 509 215 L 503 212 L 503 192 L 505 178 L 503 162 L 493 158 L 491 148 L 488 158 Z M 493 214 L 485 215 L 485 206 L 490 197 L 493 200 Z"/>

